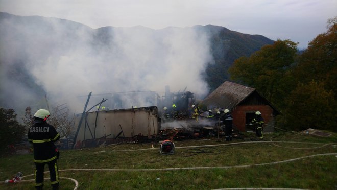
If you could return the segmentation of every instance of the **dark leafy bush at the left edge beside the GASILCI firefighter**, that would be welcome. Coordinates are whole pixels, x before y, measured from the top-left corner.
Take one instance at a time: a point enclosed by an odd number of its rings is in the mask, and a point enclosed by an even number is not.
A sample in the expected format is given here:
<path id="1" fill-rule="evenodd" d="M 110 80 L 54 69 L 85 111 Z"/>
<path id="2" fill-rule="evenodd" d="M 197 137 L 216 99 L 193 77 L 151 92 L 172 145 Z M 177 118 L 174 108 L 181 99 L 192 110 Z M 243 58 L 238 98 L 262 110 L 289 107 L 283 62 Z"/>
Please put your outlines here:
<path id="1" fill-rule="evenodd" d="M 25 134 L 25 127 L 16 121 L 14 109 L 0 108 L 0 151 L 6 153 L 9 146 L 19 143 Z"/>

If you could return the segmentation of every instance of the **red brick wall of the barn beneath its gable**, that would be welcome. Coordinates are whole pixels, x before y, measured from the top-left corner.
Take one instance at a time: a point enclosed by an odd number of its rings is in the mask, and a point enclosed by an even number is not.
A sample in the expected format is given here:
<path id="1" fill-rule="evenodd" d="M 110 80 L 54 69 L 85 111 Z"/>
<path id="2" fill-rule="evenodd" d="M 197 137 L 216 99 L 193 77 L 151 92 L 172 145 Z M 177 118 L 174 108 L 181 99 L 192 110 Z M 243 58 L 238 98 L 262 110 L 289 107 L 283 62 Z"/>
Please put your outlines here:
<path id="1" fill-rule="evenodd" d="M 236 106 L 232 112 L 233 125 L 235 125 L 239 131 L 246 131 L 246 113 L 255 113 L 256 111 L 261 112 L 265 124 L 274 123 L 273 109 L 268 105 Z"/>

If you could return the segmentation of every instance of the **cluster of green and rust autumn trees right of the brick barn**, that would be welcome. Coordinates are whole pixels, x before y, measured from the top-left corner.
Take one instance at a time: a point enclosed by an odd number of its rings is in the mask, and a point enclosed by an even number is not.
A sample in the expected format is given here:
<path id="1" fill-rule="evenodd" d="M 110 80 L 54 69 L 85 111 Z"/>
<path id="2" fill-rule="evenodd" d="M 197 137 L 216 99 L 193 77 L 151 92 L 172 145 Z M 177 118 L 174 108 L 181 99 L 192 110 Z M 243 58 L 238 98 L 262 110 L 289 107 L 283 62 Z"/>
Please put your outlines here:
<path id="1" fill-rule="evenodd" d="M 337 17 L 298 54 L 297 44 L 277 40 L 229 68 L 231 78 L 256 88 L 282 112 L 291 130 L 337 130 Z"/>

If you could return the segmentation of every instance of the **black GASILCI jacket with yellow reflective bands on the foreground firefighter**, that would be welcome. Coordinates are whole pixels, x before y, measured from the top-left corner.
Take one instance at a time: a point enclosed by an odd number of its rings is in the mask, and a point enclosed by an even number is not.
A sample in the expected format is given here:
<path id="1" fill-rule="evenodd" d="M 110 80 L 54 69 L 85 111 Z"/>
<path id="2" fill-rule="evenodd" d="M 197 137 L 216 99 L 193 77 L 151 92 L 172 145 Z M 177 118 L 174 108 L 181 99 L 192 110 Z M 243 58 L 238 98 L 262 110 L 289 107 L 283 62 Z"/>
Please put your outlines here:
<path id="1" fill-rule="evenodd" d="M 33 144 L 34 162 L 44 163 L 56 159 L 54 142 L 60 139 L 56 129 L 46 122 L 37 122 L 29 128 L 28 141 Z"/>

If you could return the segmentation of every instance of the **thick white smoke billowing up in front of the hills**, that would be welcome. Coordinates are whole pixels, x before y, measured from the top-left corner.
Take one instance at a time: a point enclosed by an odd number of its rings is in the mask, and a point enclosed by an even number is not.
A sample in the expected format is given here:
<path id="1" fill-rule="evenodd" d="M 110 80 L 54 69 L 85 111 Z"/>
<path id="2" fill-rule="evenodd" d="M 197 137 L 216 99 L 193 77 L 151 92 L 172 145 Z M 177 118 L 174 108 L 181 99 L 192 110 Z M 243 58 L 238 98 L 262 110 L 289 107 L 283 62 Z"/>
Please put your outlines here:
<path id="1" fill-rule="evenodd" d="M 173 92 L 185 87 L 200 96 L 208 92 L 201 76 L 212 60 L 208 36 L 193 27 L 94 30 L 53 18 L 15 19 L 2 19 L 8 31 L 2 31 L 7 36 L 1 45 L 11 53 L 6 59 L 21 57 L 49 101 L 67 103 L 75 112 L 85 103 L 78 97 L 89 92 L 163 92 L 165 85 Z"/>

